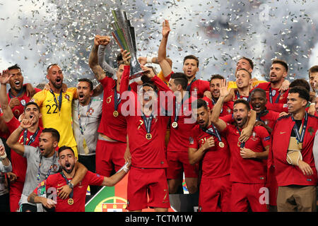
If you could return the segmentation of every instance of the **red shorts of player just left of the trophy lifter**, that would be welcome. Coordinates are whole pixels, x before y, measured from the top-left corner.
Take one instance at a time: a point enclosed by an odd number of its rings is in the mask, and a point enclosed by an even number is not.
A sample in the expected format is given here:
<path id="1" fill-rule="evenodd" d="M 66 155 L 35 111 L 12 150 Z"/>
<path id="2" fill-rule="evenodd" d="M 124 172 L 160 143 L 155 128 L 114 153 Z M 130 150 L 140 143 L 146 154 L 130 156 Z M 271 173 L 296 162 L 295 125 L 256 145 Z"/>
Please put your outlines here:
<path id="1" fill-rule="evenodd" d="M 110 177 L 112 170 L 117 171 L 124 164 L 126 143 L 98 140 L 96 145 L 96 173 Z"/>

